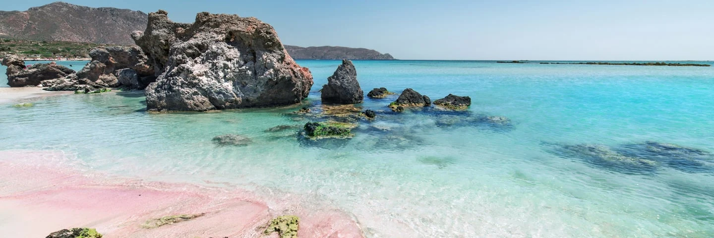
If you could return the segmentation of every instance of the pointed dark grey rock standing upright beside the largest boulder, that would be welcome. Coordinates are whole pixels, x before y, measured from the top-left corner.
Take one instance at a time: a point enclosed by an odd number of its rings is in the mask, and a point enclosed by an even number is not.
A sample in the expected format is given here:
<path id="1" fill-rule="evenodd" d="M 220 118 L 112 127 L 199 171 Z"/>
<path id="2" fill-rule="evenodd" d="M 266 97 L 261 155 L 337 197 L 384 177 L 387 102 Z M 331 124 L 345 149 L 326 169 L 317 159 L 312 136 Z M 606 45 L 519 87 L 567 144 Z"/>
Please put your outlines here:
<path id="1" fill-rule="evenodd" d="M 333 104 L 357 104 L 364 100 L 364 92 L 357 81 L 357 70 L 350 60 L 343 60 L 327 84 L 322 86 L 322 101 Z"/>

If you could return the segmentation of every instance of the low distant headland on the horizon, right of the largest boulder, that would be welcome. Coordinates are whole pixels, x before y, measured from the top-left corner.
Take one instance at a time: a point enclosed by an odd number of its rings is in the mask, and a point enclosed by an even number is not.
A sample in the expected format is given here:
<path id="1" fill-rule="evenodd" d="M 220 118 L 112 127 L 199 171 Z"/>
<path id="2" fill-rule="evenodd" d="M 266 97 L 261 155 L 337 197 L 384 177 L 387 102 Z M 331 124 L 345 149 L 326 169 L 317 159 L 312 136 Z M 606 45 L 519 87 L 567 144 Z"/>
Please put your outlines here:
<path id="1" fill-rule="evenodd" d="M 285 46 L 293 59 L 394 59 L 373 49 L 342 46 Z"/>

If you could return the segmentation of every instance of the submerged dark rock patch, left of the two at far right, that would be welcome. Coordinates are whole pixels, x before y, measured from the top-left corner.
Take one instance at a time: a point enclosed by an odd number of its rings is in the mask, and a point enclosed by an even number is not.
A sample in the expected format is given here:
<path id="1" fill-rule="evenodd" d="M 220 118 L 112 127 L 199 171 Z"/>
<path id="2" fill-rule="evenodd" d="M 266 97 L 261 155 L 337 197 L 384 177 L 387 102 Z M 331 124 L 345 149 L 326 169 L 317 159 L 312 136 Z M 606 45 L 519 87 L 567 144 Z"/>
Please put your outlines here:
<path id="1" fill-rule="evenodd" d="M 657 171 L 658 162 L 638 157 L 629 157 L 615 152 L 601 144 L 563 145 L 554 149 L 553 154 L 625 174 L 652 174 Z"/>

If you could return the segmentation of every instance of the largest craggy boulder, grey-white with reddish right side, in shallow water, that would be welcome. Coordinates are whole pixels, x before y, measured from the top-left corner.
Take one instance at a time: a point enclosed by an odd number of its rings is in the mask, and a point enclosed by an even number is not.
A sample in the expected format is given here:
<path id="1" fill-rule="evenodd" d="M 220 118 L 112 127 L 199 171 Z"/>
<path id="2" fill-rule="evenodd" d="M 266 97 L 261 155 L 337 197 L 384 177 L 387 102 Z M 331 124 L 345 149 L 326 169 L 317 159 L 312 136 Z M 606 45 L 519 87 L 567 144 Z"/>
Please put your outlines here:
<path id="1" fill-rule="evenodd" d="M 157 11 L 149 14 L 146 31 L 132 37 L 159 75 L 146 88 L 150 111 L 296 104 L 313 84 L 273 27 L 252 17 L 202 12 L 189 25 Z"/>

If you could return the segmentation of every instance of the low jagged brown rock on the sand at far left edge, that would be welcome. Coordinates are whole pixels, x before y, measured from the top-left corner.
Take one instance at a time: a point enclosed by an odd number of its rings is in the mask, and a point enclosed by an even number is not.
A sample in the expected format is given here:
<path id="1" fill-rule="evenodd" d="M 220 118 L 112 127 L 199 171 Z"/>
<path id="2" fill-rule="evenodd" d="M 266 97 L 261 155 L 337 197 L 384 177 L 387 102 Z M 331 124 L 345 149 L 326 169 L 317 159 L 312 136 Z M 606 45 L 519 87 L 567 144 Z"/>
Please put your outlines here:
<path id="1" fill-rule="evenodd" d="M 25 67 L 25 62 L 14 55 L 6 56 L 2 64 L 7 66 L 7 85 L 10 86 L 37 86 L 41 81 L 61 79 L 74 73 L 74 70 L 54 62 Z"/>

